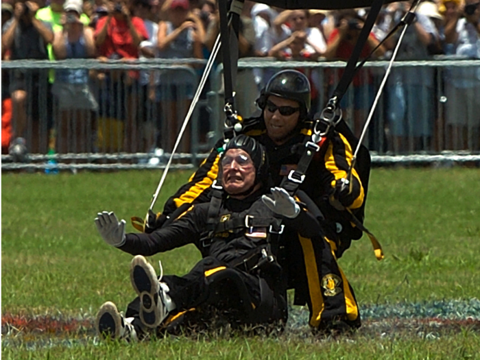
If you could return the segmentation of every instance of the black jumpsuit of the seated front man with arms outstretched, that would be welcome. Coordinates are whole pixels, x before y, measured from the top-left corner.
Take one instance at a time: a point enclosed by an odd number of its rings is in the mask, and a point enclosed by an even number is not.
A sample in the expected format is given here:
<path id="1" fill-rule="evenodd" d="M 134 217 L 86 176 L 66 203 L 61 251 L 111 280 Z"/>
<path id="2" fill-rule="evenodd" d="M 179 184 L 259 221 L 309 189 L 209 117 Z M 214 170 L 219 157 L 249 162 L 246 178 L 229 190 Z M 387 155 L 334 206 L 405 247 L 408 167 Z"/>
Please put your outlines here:
<path id="1" fill-rule="evenodd" d="M 224 196 L 219 208 L 217 222 L 243 219 L 246 215 L 257 219 L 272 219 L 274 214 L 263 204 L 257 191 L 243 200 Z M 176 313 L 170 314 L 166 324 L 195 309 L 194 320 L 189 326 L 200 326 L 211 318 L 211 310 L 226 315 L 230 324 L 285 324 L 287 320 L 286 278 L 278 265 L 268 264 L 254 272 L 243 266 L 233 265 L 237 259 L 256 249 L 268 245 L 269 229 L 236 228 L 208 237 L 207 221 L 210 204 L 191 206 L 168 226 L 151 234 L 132 233 L 126 235 L 121 250 L 133 255 L 151 256 L 173 248 L 193 243 L 202 252 L 202 259 L 189 274 L 184 276 L 163 276 L 169 286 L 169 296 L 176 304 Z M 320 224 L 304 209 L 295 219 L 283 219 L 285 233 L 300 233 L 304 237 L 316 237 Z M 268 239 L 275 241 L 276 235 Z M 277 249 L 272 244 L 272 249 Z M 273 250 L 276 256 L 276 250 Z M 132 303 L 127 317 L 136 317 L 138 300 Z M 202 315 L 198 315 L 202 313 Z M 206 319 L 207 318 L 207 319 Z M 192 321 L 195 323 L 193 324 Z M 163 324 L 165 327 L 165 324 Z"/>

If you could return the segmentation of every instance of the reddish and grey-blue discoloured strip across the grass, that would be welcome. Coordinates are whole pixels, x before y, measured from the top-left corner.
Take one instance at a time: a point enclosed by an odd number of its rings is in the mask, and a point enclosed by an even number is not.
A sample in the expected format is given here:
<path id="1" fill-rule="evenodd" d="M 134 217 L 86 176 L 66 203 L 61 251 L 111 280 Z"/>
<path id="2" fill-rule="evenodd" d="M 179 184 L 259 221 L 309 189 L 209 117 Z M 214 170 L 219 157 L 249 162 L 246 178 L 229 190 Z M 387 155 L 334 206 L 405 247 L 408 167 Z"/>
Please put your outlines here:
<path id="1" fill-rule="evenodd" d="M 363 310 L 363 325 L 353 337 L 440 338 L 474 331 L 480 333 L 480 301 L 455 300 L 429 304 L 370 305 Z M 309 313 L 292 308 L 282 336 L 311 338 Z M 95 338 L 94 318 L 67 315 L 0 315 L 0 343 L 19 346 L 61 341 L 91 341 Z"/>

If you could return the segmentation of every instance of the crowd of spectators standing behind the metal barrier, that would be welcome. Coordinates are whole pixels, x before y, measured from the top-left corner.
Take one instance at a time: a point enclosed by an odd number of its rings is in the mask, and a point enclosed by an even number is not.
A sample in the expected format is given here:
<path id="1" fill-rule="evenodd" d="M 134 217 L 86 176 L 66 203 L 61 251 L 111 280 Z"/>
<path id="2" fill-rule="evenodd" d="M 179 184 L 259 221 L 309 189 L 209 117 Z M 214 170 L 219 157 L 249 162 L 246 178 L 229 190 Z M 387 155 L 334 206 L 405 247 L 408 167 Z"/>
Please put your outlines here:
<path id="1" fill-rule="evenodd" d="M 411 1 L 404 1 L 383 7 L 362 56 L 375 48 L 372 60 L 392 56 L 398 34 L 376 46 L 410 4 Z M 239 57 L 347 60 L 367 13 L 368 9 L 282 10 L 245 0 Z M 478 59 L 479 21 L 479 0 L 424 0 L 417 9 L 416 21 L 407 29 L 398 60 L 428 60 L 440 54 Z M 3 60 L 204 59 L 219 33 L 215 0 L 3 0 L 0 22 Z M 194 67 L 194 71 L 198 70 Z M 324 101 L 318 101 L 319 97 L 330 95 L 341 75 L 341 71 L 329 69 L 322 77 L 318 69 L 302 71 L 311 80 L 312 97 L 317 104 Z M 254 112 L 254 99 L 270 75 L 272 71 L 268 70 L 239 71 L 236 87 L 241 115 Z M 476 109 L 480 108 L 480 69 L 451 67 L 442 71 L 442 82 L 437 81 L 436 75 L 435 69 L 427 67 L 400 67 L 392 71 L 385 89 L 382 129 L 389 139 L 388 149 L 432 149 L 437 136 L 435 123 L 440 117 L 442 128 L 451 134 L 446 148 L 479 149 L 480 112 Z M 379 73 L 368 69 L 358 73 L 341 104 L 348 111 L 356 134 L 372 105 L 376 76 Z M 92 79 L 99 84 L 97 91 L 89 85 Z M 47 145 L 58 152 L 91 152 L 94 146 L 88 146 L 84 138 L 93 135 L 97 143 L 112 149 L 145 151 L 132 144 L 135 139 L 148 138 L 145 144 L 152 147 L 156 141 L 153 128 L 158 128 L 158 124 L 147 124 L 142 119 L 152 115 L 158 106 L 166 109 L 169 116 L 163 119 L 167 121 L 163 128 L 169 133 L 164 134 L 164 143 L 165 139 L 175 139 L 195 91 L 189 73 L 172 76 L 158 71 L 3 70 L 2 84 L 2 152 L 7 151 L 8 142 L 14 138 L 32 139 L 27 144 L 31 152 L 43 152 Z M 444 114 L 435 106 L 434 95 L 439 87 L 446 95 Z M 52 115 L 53 103 L 58 104 L 60 112 L 56 117 Z M 49 121 L 39 121 L 40 112 Z M 14 129 L 9 116 L 14 119 Z M 55 123 L 51 119 L 56 119 Z M 93 128 L 94 123 L 97 129 Z M 41 136 L 27 137 L 27 133 L 52 134 L 51 130 L 55 130 L 56 136 L 51 137 L 57 139 L 56 145 L 34 141 Z M 184 150 L 188 150 L 188 143 Z"/>

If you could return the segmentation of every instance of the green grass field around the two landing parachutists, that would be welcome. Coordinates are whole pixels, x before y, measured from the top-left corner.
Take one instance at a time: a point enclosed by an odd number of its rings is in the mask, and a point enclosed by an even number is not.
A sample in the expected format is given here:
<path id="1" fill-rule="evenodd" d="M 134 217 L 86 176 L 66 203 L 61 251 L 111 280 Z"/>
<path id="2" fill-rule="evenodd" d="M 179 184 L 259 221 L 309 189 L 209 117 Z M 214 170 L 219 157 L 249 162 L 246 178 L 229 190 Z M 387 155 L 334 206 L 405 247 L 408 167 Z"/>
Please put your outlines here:
<path id="1" fill-rule="evenodd" d="M 157 210 L 188 176 L 169 175 Z M 48 315 L 88 323 L 106 300 L 124 309 L 134 296 L 128 272 L 131 256 L 106 245 L 93 219 L 99 211 L 115 211 L 128 221 L 127 230 L 134 231 L 129 219 L 145 215 L 159 178 L 156 171 L 1 174 L 2 318 Z M 381 241 L 385 260 L 376 261 L 364 237 L 339 261 L 367 314 L 365 326 L 350 338 L 313 339 L 304 322 L 299 325 L 302 331 L 287 331 L 278 339 L 219 334 L 99 344 L 90 328 L 67 334 L 26 333 L 3 321 L 2 357 L 480 359 L 480 307 L 475 300 L 480 298 L 479 218 L 479 169 L 374 169 L 365 224 Z M 165 273 L 184 274 L 200 254 L 187 247 L 149 260 L 155 265 L 158 259 Z M 421 319 L 425 314 L 442 315 L 440 308 L 452 303 L 448 316 L 474 316 L 475 321 L 428 334 L 415 328 L 418 323 L 388 323 L 394 309 L 413 309 L 411 316 Z M 398 314 L 394 315 L 401 317 Z M 375 327 L 377 318 L 383 321 L 382 330 Z"/>

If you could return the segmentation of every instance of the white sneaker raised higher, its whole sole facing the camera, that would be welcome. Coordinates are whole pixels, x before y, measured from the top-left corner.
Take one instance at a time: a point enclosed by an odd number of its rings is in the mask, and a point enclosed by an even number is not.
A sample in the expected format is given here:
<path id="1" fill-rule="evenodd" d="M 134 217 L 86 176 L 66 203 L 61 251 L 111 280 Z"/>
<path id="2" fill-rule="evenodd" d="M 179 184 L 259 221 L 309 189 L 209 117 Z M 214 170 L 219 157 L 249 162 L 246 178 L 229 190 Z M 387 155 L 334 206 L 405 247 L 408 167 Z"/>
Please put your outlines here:
<path id="1" fill-rule="evenodd" d="M 168 285 L 160 283 L 154 267 L 147 260 L 137 255 L 130 266 L 130 280 L 136 293 L 140 297 L 140 320 L 149 327 L 156 328 L 174 309 Z"/>

